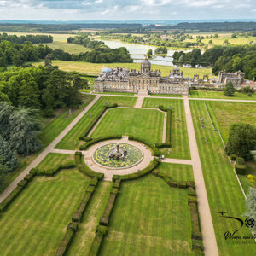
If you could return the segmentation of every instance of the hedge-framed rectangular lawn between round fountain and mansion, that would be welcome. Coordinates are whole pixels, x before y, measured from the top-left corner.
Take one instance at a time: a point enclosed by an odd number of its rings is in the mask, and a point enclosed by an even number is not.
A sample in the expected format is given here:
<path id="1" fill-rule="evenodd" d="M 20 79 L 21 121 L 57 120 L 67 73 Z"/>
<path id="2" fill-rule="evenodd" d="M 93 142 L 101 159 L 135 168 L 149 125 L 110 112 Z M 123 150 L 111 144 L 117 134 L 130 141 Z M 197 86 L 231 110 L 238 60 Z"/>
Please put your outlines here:
<path id="1" fill-rule="evenodd" d="M 161 143 L 164 117 L 164 113 L 151 109 L 111 109 L 91 137 L 122 134 L 140 137 L 150 143 Z"/>

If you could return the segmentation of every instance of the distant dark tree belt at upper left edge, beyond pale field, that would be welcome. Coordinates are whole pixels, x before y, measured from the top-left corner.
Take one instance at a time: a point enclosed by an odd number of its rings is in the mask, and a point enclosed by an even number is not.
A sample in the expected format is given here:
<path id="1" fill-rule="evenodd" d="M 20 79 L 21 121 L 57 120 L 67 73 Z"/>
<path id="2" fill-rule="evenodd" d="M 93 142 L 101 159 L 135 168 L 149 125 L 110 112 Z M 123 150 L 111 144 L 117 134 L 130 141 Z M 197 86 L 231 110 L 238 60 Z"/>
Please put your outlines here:
<path id="1" fill-rule="evenodd" d="M 7 33 L 0 33 L 0 43 L 3 41 L 9 41 L 15 44 L 24 44 L 30 42 L 32 44 L 47 44 L 53 42 L 53 37 L 50 35 L 26 35 L 20 36 L 17 35 L 8 35 Z"/>

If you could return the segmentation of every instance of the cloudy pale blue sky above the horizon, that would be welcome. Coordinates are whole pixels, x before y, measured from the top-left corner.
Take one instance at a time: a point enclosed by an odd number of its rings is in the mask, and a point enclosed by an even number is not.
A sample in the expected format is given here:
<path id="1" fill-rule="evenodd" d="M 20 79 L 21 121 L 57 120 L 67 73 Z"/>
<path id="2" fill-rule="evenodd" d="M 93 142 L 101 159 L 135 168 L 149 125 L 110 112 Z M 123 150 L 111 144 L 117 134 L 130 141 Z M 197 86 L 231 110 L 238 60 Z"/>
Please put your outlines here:
<path id="1" fill-rule="evenodd" d="M 255 19 L 256 0 L 0 0 L 1 20 Z"/>

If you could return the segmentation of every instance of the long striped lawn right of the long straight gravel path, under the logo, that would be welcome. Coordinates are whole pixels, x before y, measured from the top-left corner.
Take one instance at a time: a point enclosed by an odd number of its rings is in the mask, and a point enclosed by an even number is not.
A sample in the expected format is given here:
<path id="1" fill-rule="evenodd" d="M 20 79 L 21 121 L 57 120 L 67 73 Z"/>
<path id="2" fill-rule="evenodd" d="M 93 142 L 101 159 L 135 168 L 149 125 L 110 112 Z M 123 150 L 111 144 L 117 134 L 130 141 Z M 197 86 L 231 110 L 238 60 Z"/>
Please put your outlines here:
<path id="1" fill-rule="evenodd" d="M 201 166 L 207 188 L 208 201 L 212 213 L 218 251 L 220 255 L 253 255 L 255 243 L 242 244 L 239 241 L 224 239 L 224 232 L 238 230 L 236 236 L 249 236 L 250 231 L 229 218 L 221 218 L 218 212 L 226 212 L 227 216 L 243 218 L 245 198 L 236 180 L 230 161 L 224 153 L 223 144 L 218 131 L 213 131 L 204 102 L 189 101 L 194 121 L 196 141 L 199 148 Z M 201 129 L 199 118 L 203 117 L 205 129 Z M 208 141 L 206 142 L 206 137 Z M 242 240 L 244 241 L 244 240 Z"/>

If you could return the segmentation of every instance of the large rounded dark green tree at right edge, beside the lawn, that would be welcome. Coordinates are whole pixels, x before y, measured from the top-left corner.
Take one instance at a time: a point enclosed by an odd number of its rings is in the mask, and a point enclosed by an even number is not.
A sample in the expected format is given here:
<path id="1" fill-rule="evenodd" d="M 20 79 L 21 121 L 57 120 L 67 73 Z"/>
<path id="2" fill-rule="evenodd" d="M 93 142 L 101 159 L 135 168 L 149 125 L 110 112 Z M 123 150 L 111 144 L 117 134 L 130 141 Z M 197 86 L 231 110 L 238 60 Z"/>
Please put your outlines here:
<path id="1" fill-rule="evenodd" d="M 250 160 L 252 154 L 250 150 L 256 148 L 256 128 L 249 124 L 238 123 L 230 126 L 229 141 L 225 147 L 228 155 L 236 154 Z"/>

